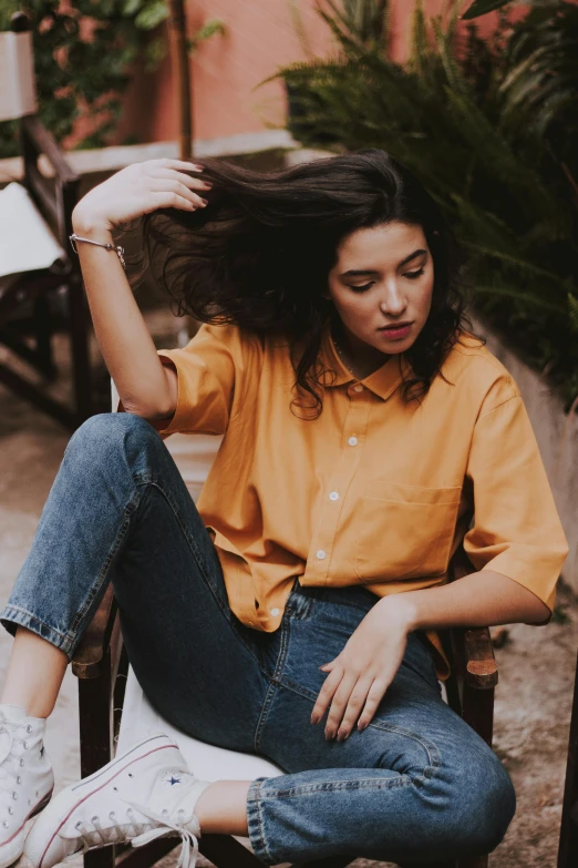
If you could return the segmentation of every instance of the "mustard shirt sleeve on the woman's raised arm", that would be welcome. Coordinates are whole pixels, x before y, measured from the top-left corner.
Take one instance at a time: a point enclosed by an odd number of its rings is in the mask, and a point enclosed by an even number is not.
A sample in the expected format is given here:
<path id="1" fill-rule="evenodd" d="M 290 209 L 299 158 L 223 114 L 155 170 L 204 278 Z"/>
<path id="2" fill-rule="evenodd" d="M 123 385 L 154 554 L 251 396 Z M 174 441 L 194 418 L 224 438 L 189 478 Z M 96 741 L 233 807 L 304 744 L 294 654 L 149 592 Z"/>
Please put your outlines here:
<path id="1" fill-rule="evenodd" d="M 235 396 L 239 353 L 238 329 L 208 325 L 202 326 L 183 349 L 158 351 L 163 364 L 174 365 L 178 378 L 176 410 L 168 422 L 156 422 L 159 435 L 225 433 Z"/>

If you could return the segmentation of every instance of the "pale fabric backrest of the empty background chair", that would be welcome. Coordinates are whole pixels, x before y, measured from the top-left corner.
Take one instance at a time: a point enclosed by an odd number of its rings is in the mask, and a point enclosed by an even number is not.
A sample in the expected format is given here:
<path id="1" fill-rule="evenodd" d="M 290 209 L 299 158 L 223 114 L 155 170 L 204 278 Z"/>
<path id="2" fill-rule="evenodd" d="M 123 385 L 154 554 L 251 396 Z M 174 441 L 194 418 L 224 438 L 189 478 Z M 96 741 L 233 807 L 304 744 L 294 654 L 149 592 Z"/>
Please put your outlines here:
<path id="1" fill-rule="evenodd" d="M 0 121 L 37 111 L 32 33 L 0 33 Z"/>

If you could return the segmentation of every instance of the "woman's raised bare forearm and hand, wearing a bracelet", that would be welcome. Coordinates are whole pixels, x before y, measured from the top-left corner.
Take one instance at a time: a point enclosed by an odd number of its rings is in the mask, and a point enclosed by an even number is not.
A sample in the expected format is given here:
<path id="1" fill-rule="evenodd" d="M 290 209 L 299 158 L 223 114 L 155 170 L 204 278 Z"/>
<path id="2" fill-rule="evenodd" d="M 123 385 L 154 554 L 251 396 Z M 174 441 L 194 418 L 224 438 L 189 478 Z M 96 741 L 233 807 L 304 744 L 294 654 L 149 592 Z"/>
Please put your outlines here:
<path id="1" fill-rule="evenodd" d="M 76 235 L 113 243 L 112 231 L 128 219 L 162 207 L 205 207 L 208 190 L 187 172 L 199 166 L 180 160 L 149 160 L 126 166 L 94 187 L 76 205 Z M 176 371 L 162 364 L 116 253 L 78 243 L 82 276 L 96 340 L 124 409 L 145 419 L 173 416 L 177 402 Z"/>

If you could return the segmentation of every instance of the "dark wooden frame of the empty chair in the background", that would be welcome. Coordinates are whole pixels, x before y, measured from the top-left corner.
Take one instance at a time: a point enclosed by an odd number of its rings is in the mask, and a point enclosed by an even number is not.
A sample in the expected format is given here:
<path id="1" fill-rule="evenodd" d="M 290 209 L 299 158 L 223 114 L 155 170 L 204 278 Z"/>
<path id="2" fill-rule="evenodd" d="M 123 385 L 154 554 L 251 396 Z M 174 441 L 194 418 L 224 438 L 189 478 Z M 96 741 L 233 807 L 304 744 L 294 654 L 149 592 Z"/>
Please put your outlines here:
<path id="1" fill-rule="evenodd" d="M 12 17 L 13 33 L 29 38 L 29 20 L 21 12 Z M 32 65 L 19 63 L 9 70 L 10 81 L 1 82 L 4 94 L 9 89 L 33 95 Z M 19 76 L 19 81 L 12 80 Z M 45 394 L 45 389 L 35 385 L 13 366 L 0 362 L 0 382 L 7 386 L 39 409 L 52 416 L 69 428 L 74 429 L 92 415 L 91 369 L 89 361 L 89 316 L 84 298 L 82 277 L 76 257 L 70 257 L 69 235 L 72 233 L 72 211 L 79 197 L 80 177 L 72 171 L 51 133 L 40 122 L 33 102 L 19 106 L 14 100 L 13 109 L 1 115 L 3 120 L 20 120 L 20 139 L 24 177 L 22 185 L 28 191 L 34 208 L 53 233 L 63 255 L 54 265 L 47 268 L 28 270 L 28 251 L 23 247 L 21 270 L 17 269 L 8 278 L 0 279 L 0 344 L 3 344 L 20 359 L 50 381 L 55 378 L 56 368 L 52 353 L 53 314 L 50 299 L 56 289 L 63 290 L 65 300 L 65 328 L 70 336 L 73 370 L 72 406 L 58 401 Z M 17 112 L 27 112 L 17 114 Z M 39 169 L 40 155 L 51 166 L 53 177 L 44 176 Z M 1 193 L 0 193 L 1 200 Z M 22 238 L 34 244 L 32 226 L 23 218 L 17 232 Z M 28 247 L 30 249 L 30 247 Z M 31 333 L 33 345 L 22 336 L 22 320 L 25 317 L 27 330 Z"/>

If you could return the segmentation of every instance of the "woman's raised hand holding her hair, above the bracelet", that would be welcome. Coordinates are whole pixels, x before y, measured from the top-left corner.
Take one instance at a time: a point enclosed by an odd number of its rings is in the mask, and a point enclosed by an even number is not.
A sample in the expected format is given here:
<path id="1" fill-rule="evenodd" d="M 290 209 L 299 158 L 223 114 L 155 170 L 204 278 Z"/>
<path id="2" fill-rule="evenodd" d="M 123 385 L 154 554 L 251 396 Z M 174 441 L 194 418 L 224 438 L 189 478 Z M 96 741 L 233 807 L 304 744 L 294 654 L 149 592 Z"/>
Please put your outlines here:
<path id="1" fill-rule="evenodd" d="M 189 172 L 203 166 L 183 160 L 146 160 L 133 163 L 93 187 L 72 213 L 74 229 L 99 227 L 111 232 L 127 221 L 157 208 L 196 211 L 207 201 L 195 191 L 211 184 Z"/>

